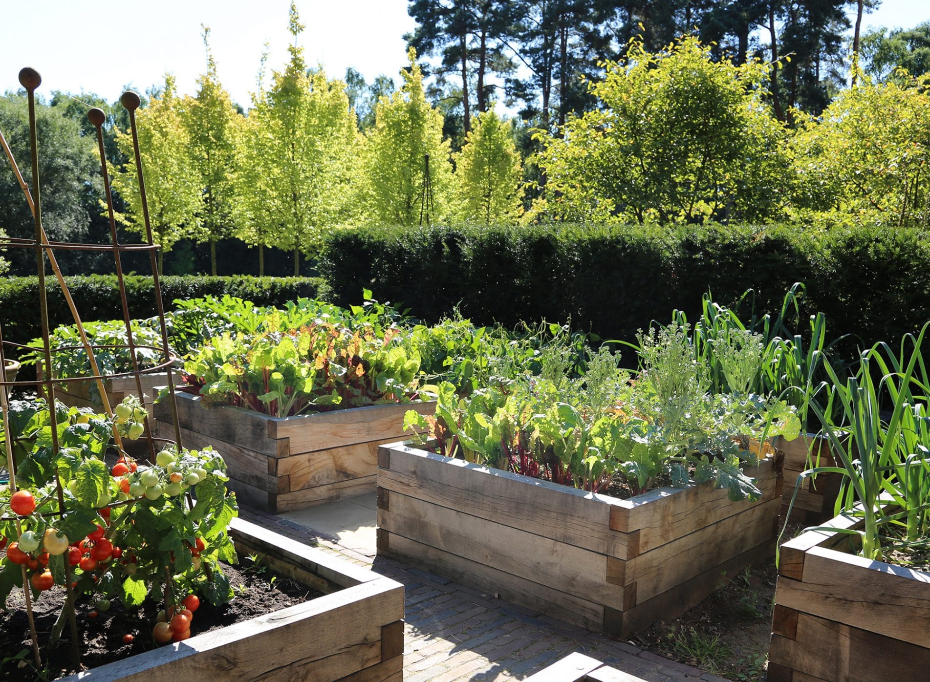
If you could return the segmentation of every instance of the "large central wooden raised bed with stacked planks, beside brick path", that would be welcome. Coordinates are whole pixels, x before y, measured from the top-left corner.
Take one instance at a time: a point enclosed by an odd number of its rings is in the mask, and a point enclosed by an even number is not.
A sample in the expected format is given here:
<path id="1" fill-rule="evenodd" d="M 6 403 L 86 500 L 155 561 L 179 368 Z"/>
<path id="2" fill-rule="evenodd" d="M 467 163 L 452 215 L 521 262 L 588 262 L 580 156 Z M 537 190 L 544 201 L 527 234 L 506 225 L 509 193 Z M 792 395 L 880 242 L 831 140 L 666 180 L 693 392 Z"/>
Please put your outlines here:
<path id="1" fill-rule="evenodd" d="M 620 500 L 404 443 L 378 464 L 379 555 L 609 635 L 680 615 L 775 550 L 772 458 L 751 471 L 754 503 L 710 483 Z"/>

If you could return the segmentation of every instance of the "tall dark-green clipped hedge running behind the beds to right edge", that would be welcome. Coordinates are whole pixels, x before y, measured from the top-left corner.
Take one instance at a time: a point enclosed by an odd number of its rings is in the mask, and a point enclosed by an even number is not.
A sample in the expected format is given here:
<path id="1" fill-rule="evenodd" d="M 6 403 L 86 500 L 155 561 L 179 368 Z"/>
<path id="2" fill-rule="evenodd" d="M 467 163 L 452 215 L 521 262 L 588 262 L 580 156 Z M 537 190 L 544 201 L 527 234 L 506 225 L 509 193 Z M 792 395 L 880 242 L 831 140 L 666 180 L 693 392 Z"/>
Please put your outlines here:
<path id="1" fill-rule="evenodd" d="M 893 341 L 930 319 L 930 230 L 802 226 L 372 227 L 332 234 L 320 263 L 337 304 L 363 287 L 435 321 L 458 305 L 473 321 L 566 321 L 631 339 L 673 308 L 693 316 L 709 289 L 722 304 L 755 291 L 777 311 L 804 282 L 804 313 L 830 336 Z M 847 344 L 847 348 L 850 345 Z"/>

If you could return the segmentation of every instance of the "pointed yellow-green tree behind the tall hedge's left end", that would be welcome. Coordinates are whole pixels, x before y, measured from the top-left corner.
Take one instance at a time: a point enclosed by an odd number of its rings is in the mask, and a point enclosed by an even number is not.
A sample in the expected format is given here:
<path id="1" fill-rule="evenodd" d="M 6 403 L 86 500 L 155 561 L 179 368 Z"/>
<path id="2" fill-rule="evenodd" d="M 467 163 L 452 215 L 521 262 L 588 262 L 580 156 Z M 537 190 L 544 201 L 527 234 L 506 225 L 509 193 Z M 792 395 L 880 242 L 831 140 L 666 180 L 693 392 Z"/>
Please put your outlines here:
<path id="1" fill-rule="evenodd" d="M 375 109 L 375 126 L 365 138 L 361 202 L 370 219 L 393 225 L 417 225 L 430 206 L 424 205 L 425 163 L 429 154 L 432 211 L 430 219 L 454 212 L 449 141 L 443 139 L 443 114 L 430 106 L 423 92 L 417 51 L 407 50 L 404 86 Z"/>

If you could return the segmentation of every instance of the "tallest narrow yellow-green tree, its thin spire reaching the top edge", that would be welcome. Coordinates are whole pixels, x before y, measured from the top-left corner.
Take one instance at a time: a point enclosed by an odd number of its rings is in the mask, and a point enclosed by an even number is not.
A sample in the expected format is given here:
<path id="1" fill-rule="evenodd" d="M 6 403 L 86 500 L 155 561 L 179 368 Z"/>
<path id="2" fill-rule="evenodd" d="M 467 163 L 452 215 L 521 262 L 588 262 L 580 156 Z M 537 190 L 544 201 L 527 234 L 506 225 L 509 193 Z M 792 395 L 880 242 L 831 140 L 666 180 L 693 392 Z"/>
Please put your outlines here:
<path id="1" fill-rule="evenodd" d="M 288 30 L 295 44 L 283 72 L 259 91 L 249 111 L 238 202 L 246 241 L 316 256 L 323 232 L 345 222 L 351 201 L 352 161 L 358 144 L 355 114 L 346 86 L 324 70 L 308 70 L 296 38 L 304 29 L 292 3 Z"/>

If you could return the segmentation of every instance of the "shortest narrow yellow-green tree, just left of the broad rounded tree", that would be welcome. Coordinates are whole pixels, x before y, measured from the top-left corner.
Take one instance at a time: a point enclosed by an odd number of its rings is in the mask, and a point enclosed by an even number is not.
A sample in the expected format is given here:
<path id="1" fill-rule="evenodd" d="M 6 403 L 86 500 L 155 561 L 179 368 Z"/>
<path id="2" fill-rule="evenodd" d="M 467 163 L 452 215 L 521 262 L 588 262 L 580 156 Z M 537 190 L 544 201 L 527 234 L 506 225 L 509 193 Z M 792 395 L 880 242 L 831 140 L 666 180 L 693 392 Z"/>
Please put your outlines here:
<path id="1" fill-rule="evenodd" d="M 472 119 L 455 162 L 462 219 L 492 224 L 520 216 L 523 164 L 513 142 L 512 122 L 502 121 L 493 105 Z"/>

